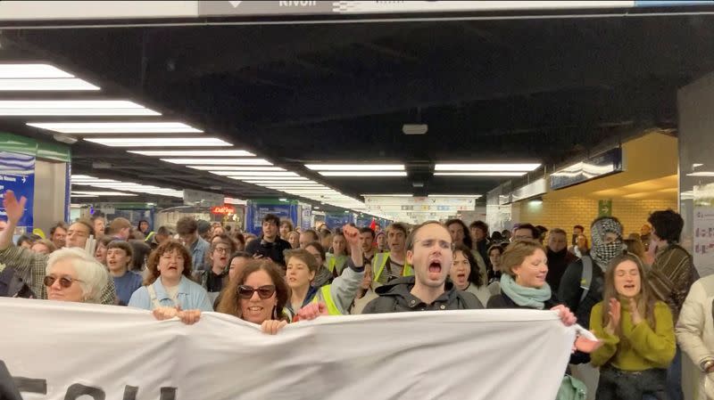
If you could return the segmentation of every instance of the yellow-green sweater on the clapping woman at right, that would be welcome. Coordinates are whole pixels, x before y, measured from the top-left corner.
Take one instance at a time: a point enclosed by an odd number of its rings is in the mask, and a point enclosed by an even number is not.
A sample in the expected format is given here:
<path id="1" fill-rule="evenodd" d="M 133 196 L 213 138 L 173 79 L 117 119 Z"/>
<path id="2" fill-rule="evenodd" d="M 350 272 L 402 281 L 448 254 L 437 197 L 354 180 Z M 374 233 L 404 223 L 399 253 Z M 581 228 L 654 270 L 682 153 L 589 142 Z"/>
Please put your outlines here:
<path id="1" fill-rule="evenodd" d="M 658 301 L 654 306 L 655 329 L 643 321 L 632 323 L 629 305 L 621 301 L 621 338 L 605 332 L 602 326 L 603 302 L 596 304 L 590 314 L 590 329 L 604 344 L 590 355 L 594 366 L 610 363 L 622 371 L 644 371 L 667 368 L 675 357 L 676 339 L 669 307 Z"/>

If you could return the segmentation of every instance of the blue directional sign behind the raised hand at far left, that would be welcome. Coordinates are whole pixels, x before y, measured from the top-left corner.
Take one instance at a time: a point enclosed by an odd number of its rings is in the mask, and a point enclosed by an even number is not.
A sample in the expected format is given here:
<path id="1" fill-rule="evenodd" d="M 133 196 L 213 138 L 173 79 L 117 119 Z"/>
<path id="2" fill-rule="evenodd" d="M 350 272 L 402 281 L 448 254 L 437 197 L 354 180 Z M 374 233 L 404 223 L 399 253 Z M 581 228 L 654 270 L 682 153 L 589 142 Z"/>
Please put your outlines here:
<path id="1" fill-rule="evenodd" d="M 5 191 L 12 191 L 20 199 L 28 199 L 25 214 L 18 227 L 24 227 L 26 232 L 32 232 L 32 203 L 35 198 L 35 156 L 19 154 L 10 151 L 0 151 L 0 198 Z M 0 203 L 0 216 L 7 218 L 5 208 Z"/>

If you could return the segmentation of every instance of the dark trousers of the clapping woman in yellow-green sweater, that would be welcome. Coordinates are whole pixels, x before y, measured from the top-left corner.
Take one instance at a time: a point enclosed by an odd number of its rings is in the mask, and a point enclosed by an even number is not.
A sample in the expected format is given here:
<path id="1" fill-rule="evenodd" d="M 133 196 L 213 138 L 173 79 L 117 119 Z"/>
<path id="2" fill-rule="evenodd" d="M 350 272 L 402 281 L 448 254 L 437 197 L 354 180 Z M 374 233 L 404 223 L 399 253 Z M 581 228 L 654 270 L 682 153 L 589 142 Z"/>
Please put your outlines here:
<path id="1" fill-rule="evenodd" d="M 643 396 L 669 400 L 666 390 L 667 370 L 620 371 L 602 367 L 596 400 L 642 400 Z"/>

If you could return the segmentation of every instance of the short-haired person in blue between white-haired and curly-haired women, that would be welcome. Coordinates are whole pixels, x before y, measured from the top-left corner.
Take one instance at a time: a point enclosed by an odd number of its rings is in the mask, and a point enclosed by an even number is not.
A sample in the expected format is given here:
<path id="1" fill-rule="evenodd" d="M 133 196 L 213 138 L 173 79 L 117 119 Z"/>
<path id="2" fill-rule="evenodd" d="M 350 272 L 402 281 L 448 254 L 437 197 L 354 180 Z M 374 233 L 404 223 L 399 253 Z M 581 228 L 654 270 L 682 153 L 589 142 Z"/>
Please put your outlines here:
<path id="1" fill-rule="evenodd" d="M 134 249 L 126 241 L 110 241 L 106 247 L 106 267 L 114 281 L 119 305 L 129 304 L 129 298 L 135 290 L 141 288 L 141 275 L 129 271 Z"/>

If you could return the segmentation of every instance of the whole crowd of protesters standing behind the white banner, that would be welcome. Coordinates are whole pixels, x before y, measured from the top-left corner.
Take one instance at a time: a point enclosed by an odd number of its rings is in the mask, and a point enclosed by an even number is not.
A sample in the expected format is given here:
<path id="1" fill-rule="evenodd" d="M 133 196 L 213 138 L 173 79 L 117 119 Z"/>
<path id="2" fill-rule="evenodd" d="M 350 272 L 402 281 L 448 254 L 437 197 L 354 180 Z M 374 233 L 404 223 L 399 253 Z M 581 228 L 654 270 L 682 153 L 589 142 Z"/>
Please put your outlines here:
<path id="1" fill-rule="evenodd" d="M 569 237 L 525 223 L 489 233 L 460 219 L 299 232 L 273 215 L 260 236 L 192 217 L 154 233 L 147 221 L 97 215 L 15 245 L 24 202 L 5 193 L 0 296 L 131 306 L 188 324 L 215 311 L 270 334 L 323 315 L 553 309 L 599 339 L 578 339 L 569 366 L 595 398 L 683 398 L 683 352 L 711 390 L 714 277 L 697 276 L 672 210 L 652 212 L 627 238 L 613 216 L 595 219 L 589 235 L 576 224 Z"/>

